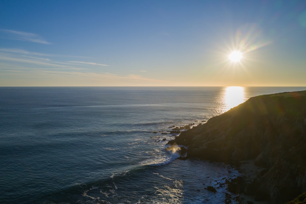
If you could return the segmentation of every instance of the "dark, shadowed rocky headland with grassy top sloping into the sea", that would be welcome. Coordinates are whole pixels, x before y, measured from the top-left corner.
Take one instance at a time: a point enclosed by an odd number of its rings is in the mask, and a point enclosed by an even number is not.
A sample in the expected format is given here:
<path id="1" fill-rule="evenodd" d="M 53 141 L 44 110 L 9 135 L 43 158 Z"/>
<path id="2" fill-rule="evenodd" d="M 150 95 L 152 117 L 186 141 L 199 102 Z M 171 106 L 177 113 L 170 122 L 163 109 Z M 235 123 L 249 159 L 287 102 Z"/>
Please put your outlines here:
<path id="1" fill-rule="evenodd" d="M 306 91 L 252 97 L 181 132 L 173 143 L 188 146 L 188 158 L 255 159 L 265 170 L 244 184 L 245 191 L 257 200 L 284 203 L 306 191 Z"/>

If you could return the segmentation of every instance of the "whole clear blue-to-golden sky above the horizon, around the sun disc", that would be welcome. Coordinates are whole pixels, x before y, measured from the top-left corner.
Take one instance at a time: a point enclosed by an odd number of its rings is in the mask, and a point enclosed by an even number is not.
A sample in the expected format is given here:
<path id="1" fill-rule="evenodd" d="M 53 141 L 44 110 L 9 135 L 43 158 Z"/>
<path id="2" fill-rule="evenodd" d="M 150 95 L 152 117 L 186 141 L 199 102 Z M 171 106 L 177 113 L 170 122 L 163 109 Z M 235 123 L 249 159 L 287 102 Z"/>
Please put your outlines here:
<path id="1" fill-rule="evenodd" d="M 0 86 L 306 86 L 306 1 L 0 0 Z"/>

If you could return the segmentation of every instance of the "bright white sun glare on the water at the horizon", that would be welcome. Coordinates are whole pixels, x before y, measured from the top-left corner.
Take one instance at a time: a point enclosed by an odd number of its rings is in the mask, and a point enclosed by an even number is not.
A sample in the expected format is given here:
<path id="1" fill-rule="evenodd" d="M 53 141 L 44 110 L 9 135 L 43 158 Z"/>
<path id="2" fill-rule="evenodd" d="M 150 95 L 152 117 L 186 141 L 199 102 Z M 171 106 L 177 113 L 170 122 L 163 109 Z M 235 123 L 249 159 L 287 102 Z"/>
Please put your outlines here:
<path id="1" fill-rule="evenodd" d="M 224 94 L 224 103 L 226 110 L 238 106 L 244 102 L 244 87 L 226 87 Z"/>

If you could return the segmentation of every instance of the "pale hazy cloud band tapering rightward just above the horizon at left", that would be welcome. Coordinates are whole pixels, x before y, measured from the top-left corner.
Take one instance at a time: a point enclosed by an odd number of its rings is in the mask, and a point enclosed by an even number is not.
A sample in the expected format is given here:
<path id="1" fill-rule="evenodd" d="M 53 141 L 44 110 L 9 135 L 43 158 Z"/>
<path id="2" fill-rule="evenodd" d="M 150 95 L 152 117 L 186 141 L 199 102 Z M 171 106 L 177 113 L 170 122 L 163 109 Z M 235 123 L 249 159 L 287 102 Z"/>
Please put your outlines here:
<path id="1" fill-rule="evenodd" d="M 20 69 L 18 69 L 20 68 Z M 25 68 L 25 67 L 24 67 Z M 0 86 L 154 86 L 169 83 L 139 75 L 118 76 L 111 73 L 83 72 L 65 69 L 1 69 Z M 20 80 L 22 78 L 22 80 Z"/>

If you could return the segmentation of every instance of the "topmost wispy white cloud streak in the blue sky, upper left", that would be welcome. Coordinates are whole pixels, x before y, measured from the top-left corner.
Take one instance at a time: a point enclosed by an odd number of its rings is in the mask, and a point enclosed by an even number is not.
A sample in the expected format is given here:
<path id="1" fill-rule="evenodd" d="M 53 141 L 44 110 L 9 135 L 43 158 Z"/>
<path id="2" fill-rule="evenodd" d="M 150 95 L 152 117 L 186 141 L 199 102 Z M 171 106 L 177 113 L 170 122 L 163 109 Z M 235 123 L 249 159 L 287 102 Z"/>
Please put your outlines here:
<path id="1" fill-rule="evenodd" d="M 8 30 L 8 29 L 0 29 L 0 37 L 6 38 L 6 39 L 12 39 L 12 40 L 21 40 L 21 41 L 28 41 L 28 42 L 33 42 L 33 43 L 47 44 L 47 45 L 51 44 L 37 34 Z"/>

